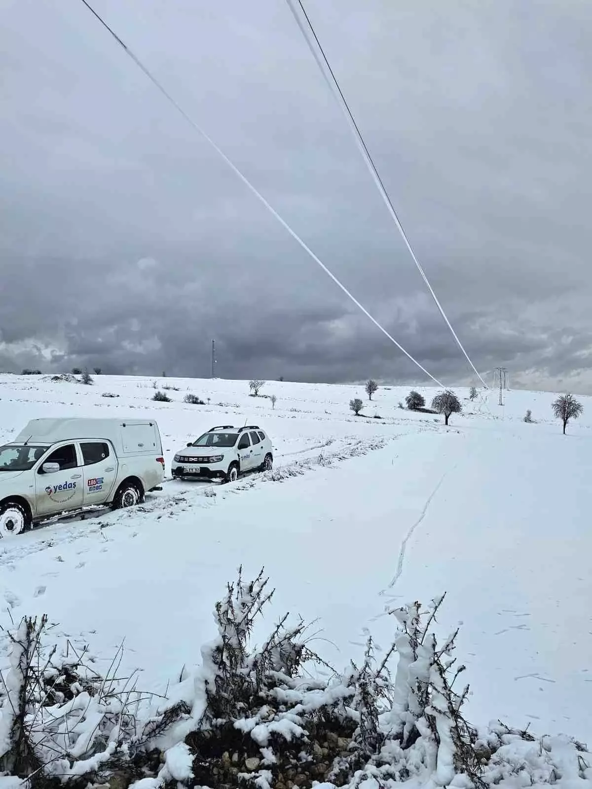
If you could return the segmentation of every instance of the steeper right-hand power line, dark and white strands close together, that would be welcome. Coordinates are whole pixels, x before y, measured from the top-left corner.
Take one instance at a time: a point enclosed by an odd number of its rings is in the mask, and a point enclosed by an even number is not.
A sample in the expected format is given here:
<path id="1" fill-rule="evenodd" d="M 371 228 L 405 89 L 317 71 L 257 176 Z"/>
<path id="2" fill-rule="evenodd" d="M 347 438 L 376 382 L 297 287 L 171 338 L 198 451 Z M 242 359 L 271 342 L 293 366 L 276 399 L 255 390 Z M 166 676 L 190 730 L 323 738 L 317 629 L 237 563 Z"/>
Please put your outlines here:
<path id="1" fill-rule="evenodd" d="M 456 335 L 455 330 L 452 328 L 452 325 L 451 325 L 450 321 L 448 320 L 448 316 L 444 312 L 444 308 L 440 304 L 440 301 L 438 301 L 438 297 L 434 293 L 432 286 L 429 284 L 429 279 L 425 275 L 425 271 L 422 269 L 421 265 L 419 264 L 419 260 L 415 256 L 415 252 L 413 251 L 413 249 L 412 249 L 412 247 L 410 245 L 410 241 L 407 238 L 407 234 L 405 233 L 405 230 L 403 230 L 403 225 L 401 224 L 401 222 L 399 220 L 399 216 L 397 215 L 397 212 L 395 211 L 395 207 L 392 204 L 391 198 L 388 196 L 388 192 L 387 192 L 387 190 L 384 187 L 384 183 L 382 182 L 382 179 L 380 178 L 380 175 L 378 174 L 377 167 L 376 167 L 376 165 L 373 162 L 372 156 L 370 155 L 370 151 L 366 147 L 366 144 L 364 142 L 364 138 L 362 137 L 362 133 L 360 132 L 360 129 L 358 129 L 358 124 L 355 122 L 354 115 L 351 113 L 350 107 L 349 107 L 349 105 L 348 105 L 348 103 L 347 103 L 347 101 L 345 99 L 345 96 L 343 95 L 343 92 L 341 91 L 341 88 L 339 88 L 339 82 L 337 81 L 337 78 L 335 77 L 335 74 L 333 73 L 333 69 L 331 68 L 331 65 L 329 65 L 327 56 L 324 54 L 323 47 L 320 46 L 320 41 L 317 38 L 317 33 L 314 31 L 313 24 L 311 23 L 311 21 L 309 19 L 309 16 L 308 16 L 308 14 L 305 11 L 304 6 L 302 5 L 302 0 L 297 0 L 297 2 L 298 2 L 298 6 L 300 6 L 300 9 L 302 10 L 302 14 L 305 17 L 305 20 L 306 20 L 306 22 L 307 22 L 307 24 L 309 26 L 310 32 L 313 34 L 313 38 L 314 38 L 315 42 L 317 43 L 318 50 L 320 52 L 320 55 L 323 58 L 322 61 L 321 61 L 321 59 L 319 57 L 317 49 L 313 46 L 313 42 L 309 38 L 309 34 L 308 34 L 304 24 L 302 24 L 302 19 L 301 19 L 300 15 L 298 14 L 298 10 L 295 7 L 294 0 L 287 0 L 287 4 L 288 4 L 288 6 L 290 6 L 291 12 L 294 14 L 294 19 L 296 20 L 296 22 L 298 24 L 298 27 L 300 28 L 300 30 L 302 32 L 302 36 L 304 36 L 306 43 L 309 45 L 309 50 L 313 53 L 313 58 L 317 61 L 317 65 L 319 66 L 320 71 L 323 74 L 323 77 L 324 77 L 325 81 L 327 82 L 329 88 L 331 89 L 332 94 L 335 96 L 335 99 L 337 100 L 337 103 L 339 104 L 339 107 L 341 107 L 341 109 L 343 110 L 343 113 L 345 114 L 345 116 L 347 118 L 347 122 L 350 125 L 350 129 L 351 129 L 352 133 L 354 134 L 356 142 L 358 143 L 358 148 L 360 149 L 360 152 L 362 153 L 362 157 L 363 157 L 366 165 L 368 166 L 370 174 L 372 175 L 372 177 L 373 177 L 373 179 L 374 179 L 374 181 L 375 181 L 375 183 L 376 183 L 376 185 L 378 187 L 378 190 L 379 190 L 379 192 L 380 192 L 380 194 L 381 194 L 381 196 L 382 196 L 382 198 L 384 200 L 384 203 L 386 204 L 386 206 L 388 208 L 388 211 L 390 212 L 390 214 L 392 216 L 392 219 L 395 221 L 395 224 L 396 224 L 397 228 L 399 229 L 399 233 L 403 236 L 403 241 L 405 241 L 405 245 L 407 245 L 407 249 L 410 252 L 410 256 L 413 258 L 415 265 L 418 267 L 418 271 L 419 271 L 420 275 L 422 275 L 422 279 L 425 282 L 426 286 L 428 287 L 428 290 L 429 290 L 430 294 L 432 294 L 433 300 L 436 302 L 436 306 L 440 310 L 440 315 L 444 318 L 444 321 L 446 322 L 448 328 L 452 332 L 452 336 L 455 338 L 460 350 L 463 351 L 463 353 L 464 353 L 464 355 L 466 357 L 466 361 L 469 362 L 470 366 L 473 368 L 476 376 L 481 381 L 483 386 L 485 388 L 487 388 L 487 384 L 485 383 L 485 381 L 479 375 L 477 368 L 475 367 L 473 362 L 470 361 L 469 354 L 466 353 L 466 350 L 463 347 L 463 343 L 460 342 L 459 337 Z"/>

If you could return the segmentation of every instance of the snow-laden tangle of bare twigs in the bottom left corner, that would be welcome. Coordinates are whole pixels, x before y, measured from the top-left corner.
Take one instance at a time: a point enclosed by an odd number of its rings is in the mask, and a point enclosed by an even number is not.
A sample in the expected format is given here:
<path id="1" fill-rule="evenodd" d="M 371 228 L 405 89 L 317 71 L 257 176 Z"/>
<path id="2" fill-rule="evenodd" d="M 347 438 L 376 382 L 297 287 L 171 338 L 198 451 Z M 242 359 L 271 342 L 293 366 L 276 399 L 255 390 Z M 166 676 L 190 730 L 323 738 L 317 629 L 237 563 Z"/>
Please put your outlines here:
<path id="1" fill-rule="evenodd" d="M 148 743 L 188 716 L 189 707 L 164 701 L 162 709 L 150 709 L 150 695 L 137 690 L 136 675 L 118 678 L 121 647 L 101 676 L 86 649 L 77 653 L 70 642 L 62 652 L 49 649 L 46 628 L 47 616 L 25 618 L 8 634 L 10 668 L 0 682 L 0 776 L 37 776 L 38 782 L 43 776 L 42 785 L 69 782 L 81 789 L 88 776 L 116 768 L 140 777 Z"/>

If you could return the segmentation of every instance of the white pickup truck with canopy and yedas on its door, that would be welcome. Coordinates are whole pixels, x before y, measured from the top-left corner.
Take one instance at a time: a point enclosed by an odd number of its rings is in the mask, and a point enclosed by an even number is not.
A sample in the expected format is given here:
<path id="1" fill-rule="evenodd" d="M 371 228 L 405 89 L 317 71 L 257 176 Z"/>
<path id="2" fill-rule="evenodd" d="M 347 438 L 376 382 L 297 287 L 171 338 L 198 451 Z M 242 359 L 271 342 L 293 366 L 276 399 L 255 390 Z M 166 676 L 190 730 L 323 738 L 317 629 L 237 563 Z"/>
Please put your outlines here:
<path id="1" fill-rule="evenodd" d="M 85 507 L 133 507 L 163 478 L 155 421 L 34 419 L 0 447 L 0 537 Z"/>

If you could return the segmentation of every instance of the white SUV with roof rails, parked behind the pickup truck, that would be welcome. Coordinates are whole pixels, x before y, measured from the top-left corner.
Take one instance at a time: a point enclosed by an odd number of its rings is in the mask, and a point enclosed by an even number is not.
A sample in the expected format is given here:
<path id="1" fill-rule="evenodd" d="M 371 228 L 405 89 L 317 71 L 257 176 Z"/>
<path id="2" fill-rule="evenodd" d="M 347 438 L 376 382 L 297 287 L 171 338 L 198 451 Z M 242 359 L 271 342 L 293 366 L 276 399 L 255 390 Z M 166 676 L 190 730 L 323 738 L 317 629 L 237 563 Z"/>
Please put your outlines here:
<path id="1" fill-rule="evenodd" d="M 234 482 L 244 471 L 273 467 L 272 442 L 258 424 L 210 428 L 197 441 L 175 454 L 173 477 L 195 477 Z"/>

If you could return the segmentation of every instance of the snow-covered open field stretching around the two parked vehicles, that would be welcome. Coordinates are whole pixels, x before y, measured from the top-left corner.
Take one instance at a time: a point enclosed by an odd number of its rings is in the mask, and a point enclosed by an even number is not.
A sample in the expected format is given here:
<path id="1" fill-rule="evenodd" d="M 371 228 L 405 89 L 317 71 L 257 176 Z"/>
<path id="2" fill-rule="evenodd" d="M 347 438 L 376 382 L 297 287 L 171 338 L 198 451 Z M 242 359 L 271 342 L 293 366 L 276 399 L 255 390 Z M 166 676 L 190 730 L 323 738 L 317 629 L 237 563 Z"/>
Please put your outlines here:
<path id="1" fill-rule="evenodd" d="M 125 639 L 125 667 L 164 692 L 199 663 L 239 564 L 249 576 L 265 567 L 276 616 L 319 620 L 313 647 L 339 668 L 360 656 L 367 630 L 390 645 L 386 609 L 447 592 L 440 633 L 463 623 L 470 719 L 592 742 L 589 398 L 564 437 L 547 393 L 506 392 L 500 407 L 496 391 L 470 403 L 459 389 L 464 413 L 445 428 L 397 407 L 410 387 L 381 387 L 368 403 L 363 387 L 270 382 L 261 394 L 277 396 L 272 409 L 245 381 L 158 383 L 178 387 L 173 402 L 152 402 L 148 379 L 0 376 L 0 439 L 35 417 L 151 417 L 170 473 L 190 438 L 247 421 L 269 432 L 286 478 L 167 481 L 136 510 L 0 541 L 2 627 L 47 612 L 56 640 L 90 644 L 106 668 Z M 188 391 L 206 405 L 185 405 Z M 355 396 L 365 417 L 348 408 Z M 526 409 L 536 424 L 523 422 Z"/>

